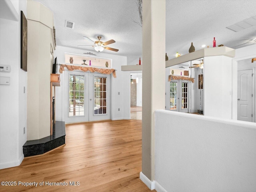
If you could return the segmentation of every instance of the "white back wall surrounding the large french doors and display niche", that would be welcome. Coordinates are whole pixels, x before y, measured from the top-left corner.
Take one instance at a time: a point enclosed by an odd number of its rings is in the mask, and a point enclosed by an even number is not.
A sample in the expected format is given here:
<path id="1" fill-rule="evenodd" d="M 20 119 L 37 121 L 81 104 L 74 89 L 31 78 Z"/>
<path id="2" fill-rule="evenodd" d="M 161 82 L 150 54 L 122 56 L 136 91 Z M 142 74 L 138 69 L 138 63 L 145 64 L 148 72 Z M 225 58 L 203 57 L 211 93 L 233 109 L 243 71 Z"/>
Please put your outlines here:
<path id="1" fill-rule="evenodd" d="M 84 50 L 84 49 L 75 49 L 75 48 L 68 48 L 63 46 L 56 46 L 56 50 L 54 52 L 55 57 L 58 59 L 59 64 L 65 64 L 65 53 L 73 53 L 78 55 L 84 55 L 84 52 L 94 52 L 92 50 Z M 112 68 L 116 69 L 116 78 L 112 77 L 112 85 L 111 85 L 111 113 L 112 113 L 112 120 L 118 119 L 128 119 L 130 118 L 130 78 L 129 73 L 125 73 L 121 71 L 121 65 L 126 65 L 126 57 L 113 55 L 106 53 L 107 51 L 104 50 L 101 53 L 96 53 L 95 57 L 102 57 L 102 58 L 109 58 L 112 59 Z M 66 63 L 69 64 L 69 63 Z M 59 73 L 60 66 L 58 66 L 58 73 Z M 64 83 L 62 81 L 63 75 L 60 76 L 60 87 L 56 87 L 56 121 L 64 121 L 64 111 L 68 109 L 63 109 L 62 102 L 64 101 L 64 94 L 65 93 L 63 87 Z M 128 80 L 127 80 L 128 79 Z M 127 85 L 128 82 L 128 85 Z M 120 95 L 118 95 L 120 92 Z M 129 102 L 128 102 L 129 101 Z M 120 108 L 120 111 L 118 111 Z"/>

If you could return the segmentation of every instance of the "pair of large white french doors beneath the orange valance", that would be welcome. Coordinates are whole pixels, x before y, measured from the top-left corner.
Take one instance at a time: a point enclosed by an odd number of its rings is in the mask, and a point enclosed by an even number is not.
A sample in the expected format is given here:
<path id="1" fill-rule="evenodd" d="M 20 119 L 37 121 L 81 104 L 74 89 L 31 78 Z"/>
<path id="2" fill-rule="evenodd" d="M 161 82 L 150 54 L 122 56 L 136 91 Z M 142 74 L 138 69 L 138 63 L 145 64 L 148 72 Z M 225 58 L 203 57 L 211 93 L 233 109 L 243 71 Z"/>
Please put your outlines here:
<path id="1" fill-rule="evenodd" d="M 75 72 L 65 77 L 66 123 L 110 119 L 110 75 Z"/>

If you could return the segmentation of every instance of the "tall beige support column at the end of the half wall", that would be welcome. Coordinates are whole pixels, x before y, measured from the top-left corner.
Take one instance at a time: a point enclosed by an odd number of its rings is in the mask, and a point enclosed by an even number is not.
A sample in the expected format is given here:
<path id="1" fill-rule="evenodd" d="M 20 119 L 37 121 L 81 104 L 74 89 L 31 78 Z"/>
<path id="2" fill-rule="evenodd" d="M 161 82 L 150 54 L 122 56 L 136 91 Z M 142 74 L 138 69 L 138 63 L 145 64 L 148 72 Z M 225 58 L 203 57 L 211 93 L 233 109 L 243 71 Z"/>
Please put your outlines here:
<path id="1" fill-rule="evenodd" d="M 165 108 L 165 0 L 142 2 L 142 173 L 155 179 L 155 110 Z"/>

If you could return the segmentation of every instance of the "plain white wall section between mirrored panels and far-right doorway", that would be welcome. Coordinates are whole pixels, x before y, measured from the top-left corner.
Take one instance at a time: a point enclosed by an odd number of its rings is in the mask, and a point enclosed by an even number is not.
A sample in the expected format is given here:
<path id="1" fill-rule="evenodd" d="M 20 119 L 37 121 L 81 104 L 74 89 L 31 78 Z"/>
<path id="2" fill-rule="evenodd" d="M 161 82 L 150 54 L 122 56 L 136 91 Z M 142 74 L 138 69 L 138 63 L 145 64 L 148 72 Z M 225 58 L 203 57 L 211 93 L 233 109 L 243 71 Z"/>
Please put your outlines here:
<path id="1" fill-rule="evenodd" d="M 230 57 L 204 57 L 204 115 L 232 119 Z"/>

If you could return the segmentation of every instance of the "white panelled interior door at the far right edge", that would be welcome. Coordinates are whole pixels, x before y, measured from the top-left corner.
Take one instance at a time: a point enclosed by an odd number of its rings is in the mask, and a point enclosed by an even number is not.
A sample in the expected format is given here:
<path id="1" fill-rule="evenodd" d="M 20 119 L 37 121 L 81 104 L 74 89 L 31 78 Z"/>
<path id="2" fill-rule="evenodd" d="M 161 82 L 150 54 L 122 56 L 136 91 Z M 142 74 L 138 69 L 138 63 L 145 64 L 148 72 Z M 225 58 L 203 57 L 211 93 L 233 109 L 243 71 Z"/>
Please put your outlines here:
<path id="1" fill-rule="evenodd" d="M 252 69 L 238 71 L 237 119 L 252 122 Z"/>

